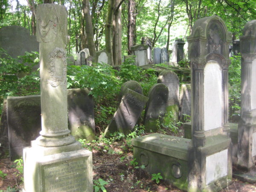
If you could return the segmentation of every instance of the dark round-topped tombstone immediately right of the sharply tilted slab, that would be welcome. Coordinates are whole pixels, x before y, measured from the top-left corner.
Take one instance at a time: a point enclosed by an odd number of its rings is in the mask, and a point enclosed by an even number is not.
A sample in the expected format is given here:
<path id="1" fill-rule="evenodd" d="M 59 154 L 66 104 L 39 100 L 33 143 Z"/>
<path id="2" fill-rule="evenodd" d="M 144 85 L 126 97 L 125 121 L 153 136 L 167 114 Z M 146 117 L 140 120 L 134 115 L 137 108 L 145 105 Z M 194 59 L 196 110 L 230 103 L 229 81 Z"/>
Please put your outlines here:
<path id="1" fill-rule="evenodd" d="M 168 94 L 168 87 L 164 84 L 154 84 L 149 90 L 143 120 L 145 131 L 157 131 L 157 123 L 162 122 L 166 111 Z"/>

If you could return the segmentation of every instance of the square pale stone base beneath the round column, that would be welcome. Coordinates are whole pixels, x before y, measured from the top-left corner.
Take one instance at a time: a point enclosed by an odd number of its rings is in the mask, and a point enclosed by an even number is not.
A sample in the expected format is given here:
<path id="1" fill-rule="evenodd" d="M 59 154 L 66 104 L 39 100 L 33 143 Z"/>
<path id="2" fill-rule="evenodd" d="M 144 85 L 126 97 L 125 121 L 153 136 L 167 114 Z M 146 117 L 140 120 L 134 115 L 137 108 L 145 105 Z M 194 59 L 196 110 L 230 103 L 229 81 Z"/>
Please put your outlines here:
<path id="1" fill-rule="evenodd" d="M 93 191 L 92 152 L 75 151 L 45 155 L 44 148 L 24 148 L 24 192 Z"/>

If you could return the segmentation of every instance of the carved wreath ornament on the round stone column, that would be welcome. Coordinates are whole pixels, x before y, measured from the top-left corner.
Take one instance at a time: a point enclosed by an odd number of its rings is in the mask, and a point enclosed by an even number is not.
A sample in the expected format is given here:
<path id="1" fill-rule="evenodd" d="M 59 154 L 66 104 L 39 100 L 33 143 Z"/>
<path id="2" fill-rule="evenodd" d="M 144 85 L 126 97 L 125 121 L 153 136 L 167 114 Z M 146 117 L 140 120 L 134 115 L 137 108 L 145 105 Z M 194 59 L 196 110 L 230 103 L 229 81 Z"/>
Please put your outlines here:
<path id="1" fill-rule="evenodd" d="M 56 62 L 56 59 L 61 59 L 61 62 Z M 67 60 L 64 49 L 56 47 L 50 54 L 49 73 L 50 79 L 48 82 L 52 87 L 67 86 Z"/>

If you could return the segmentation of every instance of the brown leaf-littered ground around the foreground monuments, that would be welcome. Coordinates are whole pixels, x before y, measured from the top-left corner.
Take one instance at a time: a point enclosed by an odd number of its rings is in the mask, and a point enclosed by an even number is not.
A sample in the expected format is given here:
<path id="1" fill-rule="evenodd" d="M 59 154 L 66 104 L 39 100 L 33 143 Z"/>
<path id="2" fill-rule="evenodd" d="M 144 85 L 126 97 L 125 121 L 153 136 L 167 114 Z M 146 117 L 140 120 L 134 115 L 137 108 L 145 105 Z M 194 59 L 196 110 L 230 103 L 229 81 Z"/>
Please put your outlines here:
<path id="1" fill-rule="evenodd" d="M 179 135 L 182 135 L 182 130 Z M 126 140 L 108 143 L 87 144 L 93 152 L 93 182 L 101 178 L 108 182 L 104 187 L 108 192 L 181 192 L 174 186 L 160 180 L 156 183 L 141 168 L 131 165 L 132 148 Z M 3 147 L 2 151 L 3 152 Z M 0 157 L 0 192 L 15 192 L 23 188 L 23 175 L 15 168 L 16 163 L 9 160 L 8 154 Z M 221 192 L 256 192 L 256 183 L 244 183 L 233 178 L 232 184 Z"/>

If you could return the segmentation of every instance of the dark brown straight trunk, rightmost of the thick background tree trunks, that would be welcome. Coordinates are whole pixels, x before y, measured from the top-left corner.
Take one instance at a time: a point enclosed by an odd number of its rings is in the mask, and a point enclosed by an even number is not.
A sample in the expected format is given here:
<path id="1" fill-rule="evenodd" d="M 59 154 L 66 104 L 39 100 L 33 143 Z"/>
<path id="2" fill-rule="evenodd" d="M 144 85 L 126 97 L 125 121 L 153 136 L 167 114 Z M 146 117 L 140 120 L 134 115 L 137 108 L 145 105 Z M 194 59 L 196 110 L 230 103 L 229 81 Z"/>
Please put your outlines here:
<path id="1" fill-rule="evenodd" d="M 136 31 L 136 3 L 135 0 L 128 1 L 128 26 L 127 26 L 127 48 L 128 55 L 132 55 L 131 47 L 134 45 Z"/>

